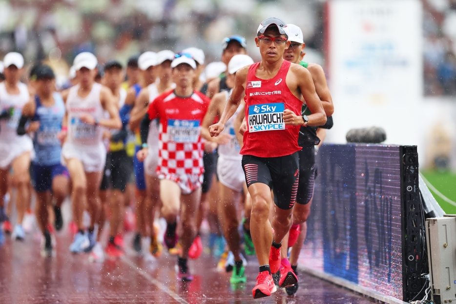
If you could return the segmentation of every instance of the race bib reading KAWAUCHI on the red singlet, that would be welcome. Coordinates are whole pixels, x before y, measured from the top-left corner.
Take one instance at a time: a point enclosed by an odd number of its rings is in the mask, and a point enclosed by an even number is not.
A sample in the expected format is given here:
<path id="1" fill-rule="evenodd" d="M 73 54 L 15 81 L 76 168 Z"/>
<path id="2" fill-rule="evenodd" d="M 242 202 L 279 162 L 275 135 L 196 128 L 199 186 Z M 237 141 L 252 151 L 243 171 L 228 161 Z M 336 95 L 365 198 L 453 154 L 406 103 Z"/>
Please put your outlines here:
<path id="1" fill-rule="evenodd" d="M 285 130 L 283 103 L 249 106 L 249 132 Z"/>

